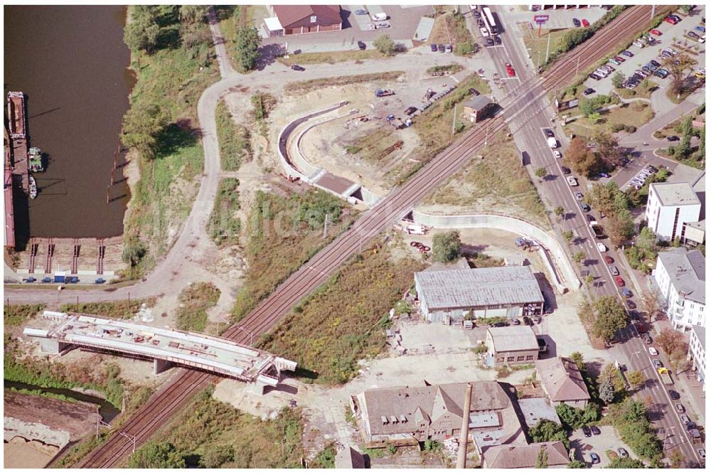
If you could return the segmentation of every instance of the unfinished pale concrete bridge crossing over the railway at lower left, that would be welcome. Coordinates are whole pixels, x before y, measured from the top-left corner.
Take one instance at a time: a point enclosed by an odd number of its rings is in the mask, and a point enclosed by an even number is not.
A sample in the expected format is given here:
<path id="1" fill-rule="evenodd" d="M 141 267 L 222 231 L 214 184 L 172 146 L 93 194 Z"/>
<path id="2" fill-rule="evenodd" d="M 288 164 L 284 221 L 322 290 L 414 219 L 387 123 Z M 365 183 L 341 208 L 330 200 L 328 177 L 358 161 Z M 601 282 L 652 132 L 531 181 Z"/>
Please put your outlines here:
<path id="1" fill-rule="evenodd" d="M 45 311 L 43 319 L 45 328 L 27 327 L 23 333 L 40 339 L 42 351 L 50 354 L 78 347 L 153 359 L 156 374 L 181 365 L 251 383 L 260 393 L 267 386 L 276 387 L 282 371 L 296 369 L 294 361 L 217 336 L 89 314 Z"/>

